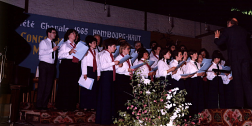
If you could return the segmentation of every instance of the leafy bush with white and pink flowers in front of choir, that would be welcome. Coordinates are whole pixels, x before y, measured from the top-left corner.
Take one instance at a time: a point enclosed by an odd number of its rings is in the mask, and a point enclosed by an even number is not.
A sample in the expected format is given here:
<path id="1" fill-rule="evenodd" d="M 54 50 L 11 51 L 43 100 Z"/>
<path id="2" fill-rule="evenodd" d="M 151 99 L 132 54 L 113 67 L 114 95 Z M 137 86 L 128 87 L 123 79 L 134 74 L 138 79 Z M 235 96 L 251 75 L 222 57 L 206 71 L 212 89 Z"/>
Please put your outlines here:
<path id="1" fill-rule="evenodd" d="M 136 72 L 138 73 L 138 72 Z M 134 75 L 132 79 L 133 99 L 125 103 L 126 112 L 119 111 L 119 118 L 114 120 L 118 126 L 143 125 L 194 125 L 198 116 L 187 121 L 184 116 L 189 114 L 190 103 L 185 103 L 185 90 L 178 88 L 165 90 L 168 82 L 156 83 Z"/>

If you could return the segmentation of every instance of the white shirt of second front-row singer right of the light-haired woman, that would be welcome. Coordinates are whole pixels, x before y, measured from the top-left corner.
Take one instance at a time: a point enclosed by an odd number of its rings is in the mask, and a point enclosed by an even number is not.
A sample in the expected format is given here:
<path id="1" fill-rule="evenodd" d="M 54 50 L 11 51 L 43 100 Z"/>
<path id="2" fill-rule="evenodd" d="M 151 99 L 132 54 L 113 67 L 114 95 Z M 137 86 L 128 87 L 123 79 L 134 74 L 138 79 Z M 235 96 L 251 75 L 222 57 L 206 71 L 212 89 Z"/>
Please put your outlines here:
<path id="1" fill-rule="evenodd" d="M 172 74 L 172 72 L 167 73 L 167 70 L 169 70 L 171 67 L 166 63 L 166 60 L 159 60 L 157 66 L 158 69 L 156 72 L 156 77 L 166 77 L 167 75 Z"/>

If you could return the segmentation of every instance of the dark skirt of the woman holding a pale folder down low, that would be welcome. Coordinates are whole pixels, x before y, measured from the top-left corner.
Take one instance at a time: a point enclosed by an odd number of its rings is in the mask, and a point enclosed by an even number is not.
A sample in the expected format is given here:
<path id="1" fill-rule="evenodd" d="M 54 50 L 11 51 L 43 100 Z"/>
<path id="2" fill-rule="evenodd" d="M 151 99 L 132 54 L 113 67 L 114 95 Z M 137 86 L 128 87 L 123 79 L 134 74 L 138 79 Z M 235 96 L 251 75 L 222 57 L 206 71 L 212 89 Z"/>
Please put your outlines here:
<path id="1" fill-rule="evenodd" d="M 82 75 L 83 76 L 83 75 Z M 87 77 L 94 79 L 92 90 L 81 87 L 80 89 L 80 108 L 96 109 L 97 105 L 97 71 L 93 72 L 93 67 L 87 67 Z"/>

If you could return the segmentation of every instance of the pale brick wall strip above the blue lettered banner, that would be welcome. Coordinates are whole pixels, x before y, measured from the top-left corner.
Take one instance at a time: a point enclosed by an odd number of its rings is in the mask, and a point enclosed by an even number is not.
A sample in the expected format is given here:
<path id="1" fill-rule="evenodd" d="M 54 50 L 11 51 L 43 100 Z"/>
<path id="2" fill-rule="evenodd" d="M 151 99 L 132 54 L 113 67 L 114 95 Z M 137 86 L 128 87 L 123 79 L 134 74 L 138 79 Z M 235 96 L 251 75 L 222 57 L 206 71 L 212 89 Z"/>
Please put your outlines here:
<path id="1" fill-rule="evenodd" d="M 25 6 L 25 0 L 0 0 L 21 8 Z M 107 6 L 108 8 L 108 6 Z M 85 0 L 29 0 L 28 13 L 39 14 L 57 18 L 72 19 L 83 22 L 106 24 L 112 26 L 126 27 L 144 30 L 144 12 L 122 7 L 110 6 L 110 17 L 104 11 L 104 4 Z M 206 33 L 204 23 L 173 18 L 174 28 L 172 33 L 194 38 Z M 200 27 L 201 26 L 201 27 Z M 171 26 L 168 16 L 147 13 L 147 30 L 166 33 Z M 221 27 L 210 25 L 211 30 Z M 202 39 L 202 48 L 206 48 L 211 56 L 217 48 L 213 43 L 214 35 Z M 226 51 L 222 52 L 227 57 Z"/>

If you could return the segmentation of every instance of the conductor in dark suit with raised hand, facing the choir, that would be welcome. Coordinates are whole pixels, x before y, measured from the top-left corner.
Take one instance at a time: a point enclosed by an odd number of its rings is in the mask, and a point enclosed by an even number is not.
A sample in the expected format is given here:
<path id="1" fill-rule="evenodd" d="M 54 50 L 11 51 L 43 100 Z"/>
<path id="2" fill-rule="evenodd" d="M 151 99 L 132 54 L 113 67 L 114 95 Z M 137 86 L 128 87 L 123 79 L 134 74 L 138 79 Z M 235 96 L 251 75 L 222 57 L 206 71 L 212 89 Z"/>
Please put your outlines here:
<path id="1" fill-rule="evenodd" d="M 220 31 L 215 32 L 214 43 L 216 45 L 226 44 L 228 59 L 231 64 L 235 106 L 243 108 L 244 104 L 252 108 L 252 83 L 250 79 L 250 54 L 247 46 L 248 32 L 238 26 L 236 18 L 227 21 L 227 28 L 220 35 Z"/>

